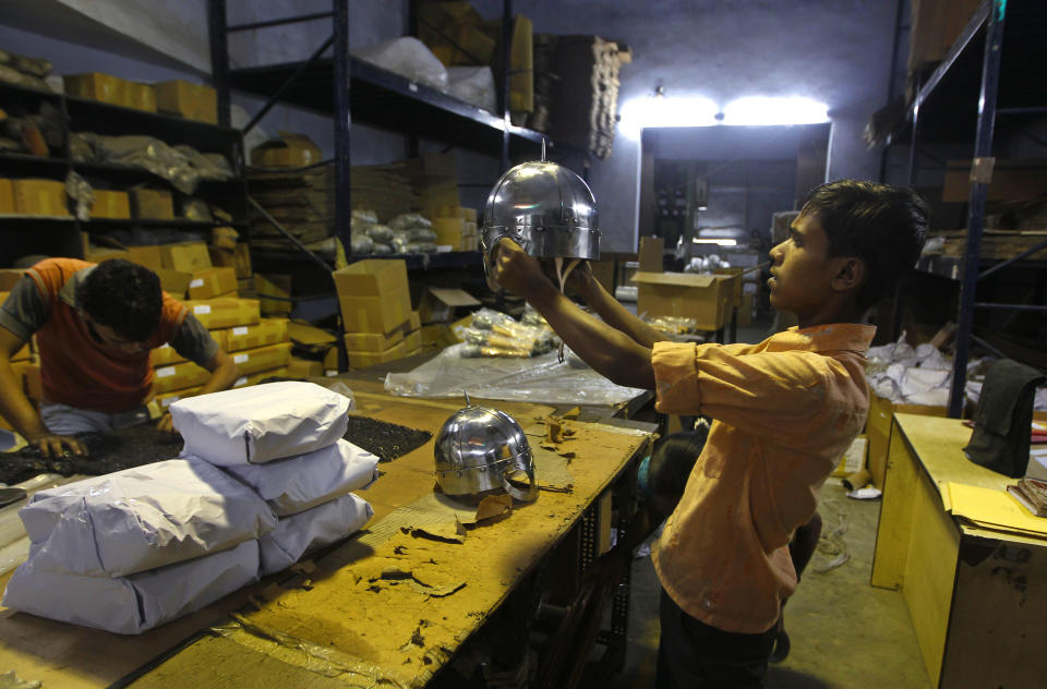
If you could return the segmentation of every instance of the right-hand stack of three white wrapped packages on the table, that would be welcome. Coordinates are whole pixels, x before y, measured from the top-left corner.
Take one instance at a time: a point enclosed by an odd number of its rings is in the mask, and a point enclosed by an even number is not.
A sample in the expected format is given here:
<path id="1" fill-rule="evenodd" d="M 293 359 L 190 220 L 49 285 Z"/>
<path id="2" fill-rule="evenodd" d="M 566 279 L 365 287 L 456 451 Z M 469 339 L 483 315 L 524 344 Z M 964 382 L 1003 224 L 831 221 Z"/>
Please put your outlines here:
<path id="1" fill-rule="evenodd" d="M 258 540 L 261 573 L 359 531 L 371 504 L 353 495 L 377 475 L 378 458 L 341 439 L 349 398 L 313 383 L 270 383 L 171 404 L 183 457 L 220 466 L 279 517 Z"/>

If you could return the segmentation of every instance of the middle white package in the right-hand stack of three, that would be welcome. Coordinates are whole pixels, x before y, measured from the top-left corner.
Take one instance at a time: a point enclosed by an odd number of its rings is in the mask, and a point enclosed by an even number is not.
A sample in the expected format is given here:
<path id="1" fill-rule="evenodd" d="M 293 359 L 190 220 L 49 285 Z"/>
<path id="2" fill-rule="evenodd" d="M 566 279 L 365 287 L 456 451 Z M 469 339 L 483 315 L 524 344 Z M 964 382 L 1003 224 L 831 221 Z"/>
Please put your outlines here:
<path id="1" fill-rule="evenodd" d="M 254 488 L 279 517 L 297 515 L 359 491 L 377 478 L 378 458 L 348 440 L 265 464 L 226 467 Z"/>

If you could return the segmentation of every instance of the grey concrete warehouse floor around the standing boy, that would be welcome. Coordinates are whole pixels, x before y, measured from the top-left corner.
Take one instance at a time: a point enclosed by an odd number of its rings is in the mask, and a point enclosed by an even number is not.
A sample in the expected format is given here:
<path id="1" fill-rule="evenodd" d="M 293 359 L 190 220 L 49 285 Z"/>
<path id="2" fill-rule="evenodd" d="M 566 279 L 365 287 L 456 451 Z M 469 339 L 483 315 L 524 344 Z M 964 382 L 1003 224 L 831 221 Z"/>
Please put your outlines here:
<path id="1" fill-rule="evenodd" d="M 739 328 L 737 340 L 759 342 L 769 327 Z M 880 501 L 851 499 L 839 480 L 830 479 L 819 509 L 825 523 L 819 549 L 785 607 L 792 651 L 770 666 L 767 686 L 929 688 L 901 593 L 869 585 Z M 829 569 L 843 553 L 846 561 Z M 650 557 L 634 560 L 625 668 L 606 689 L 654 686 L 660 593 Z"/>

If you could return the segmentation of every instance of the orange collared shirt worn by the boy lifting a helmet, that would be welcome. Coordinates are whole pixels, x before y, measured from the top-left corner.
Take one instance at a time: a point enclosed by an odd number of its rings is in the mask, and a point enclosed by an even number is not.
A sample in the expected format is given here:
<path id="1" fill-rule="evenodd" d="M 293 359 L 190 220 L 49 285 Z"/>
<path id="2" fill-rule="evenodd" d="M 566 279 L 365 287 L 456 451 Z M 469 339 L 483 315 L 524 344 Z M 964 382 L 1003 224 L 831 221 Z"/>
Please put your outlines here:
<path id="1" fill-rule="evenodd" d="M 654 344 L 655 409 L 714 420 L 652 558 L 691 617 L 742 633 L 778 620 L 796 589 L 789 540 L 865 424 L 875 333 L 833 324 L 759 344 Z"/>

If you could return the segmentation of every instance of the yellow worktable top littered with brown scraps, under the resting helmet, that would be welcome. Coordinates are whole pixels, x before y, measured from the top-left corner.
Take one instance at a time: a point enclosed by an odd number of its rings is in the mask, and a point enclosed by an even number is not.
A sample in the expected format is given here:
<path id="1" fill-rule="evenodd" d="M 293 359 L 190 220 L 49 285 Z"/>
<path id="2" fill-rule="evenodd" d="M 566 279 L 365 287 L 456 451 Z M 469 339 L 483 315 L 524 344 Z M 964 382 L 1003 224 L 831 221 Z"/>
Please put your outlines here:
<path id="1" fill-rule="evenodd" d="M 460 407 L 368 388 L 353 384 L 361 413 L 434 433 Z M 494 404 L 526 430 L 551 411 Z M 406 507 L 431 499 L 430 440 L 380 466 L 382 478 L 361 494 L 375 509 L 368 530 L 314 560 L 315 569 L 270 578 L 137 637 L 3 611 L 0 673 L 14 669 L 62 689 L 423 686 L 557 543 L 577 533 L 582 516 L 651 438 L 597 423 L 573 427 L 573 492 L 542 492 L 508 517 L 470 529 L 462 543 L 413 537 L 398 528 L 410 522 Z M 539 438 L 530 442 L 534 447 Z M 414 579 L 383 577 L 397 570 Z"/>

